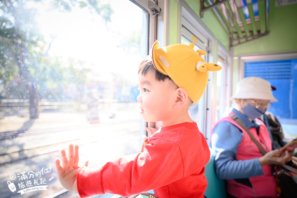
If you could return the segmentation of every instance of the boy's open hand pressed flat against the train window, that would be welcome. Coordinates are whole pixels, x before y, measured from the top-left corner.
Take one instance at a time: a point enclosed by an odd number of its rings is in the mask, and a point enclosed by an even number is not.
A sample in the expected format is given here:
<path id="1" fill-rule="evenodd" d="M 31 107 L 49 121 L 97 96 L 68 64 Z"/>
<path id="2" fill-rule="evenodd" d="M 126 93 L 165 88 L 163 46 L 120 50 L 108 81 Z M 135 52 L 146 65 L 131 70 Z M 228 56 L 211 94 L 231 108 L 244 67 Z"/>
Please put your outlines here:
<path id="1" fill-rule="evenodd" d="M 68 159 L 66 157 L 66 151 L 61 150 L 62 165 L 60 165 L 60 159 L 56 159 L 56 169 L 58 172 L 59 180 L 65 189 L 69 191 L 77 192 L 76 175 L 78 172 L 78 145 L 75 145 L 73 151 L 73 145 L 69 145 Z M 85 163 L 88 166 L 88 161 Z"/>

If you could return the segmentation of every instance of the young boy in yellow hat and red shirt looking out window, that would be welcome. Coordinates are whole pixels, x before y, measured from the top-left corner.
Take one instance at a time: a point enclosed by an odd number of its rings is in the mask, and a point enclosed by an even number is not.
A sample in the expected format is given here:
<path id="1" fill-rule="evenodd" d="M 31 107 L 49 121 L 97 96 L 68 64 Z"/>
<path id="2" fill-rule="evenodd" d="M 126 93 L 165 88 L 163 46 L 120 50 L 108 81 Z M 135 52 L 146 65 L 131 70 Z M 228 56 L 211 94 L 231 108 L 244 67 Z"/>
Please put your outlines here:
<path id="1" fill-rule="evenodd" d="M 208 71 L 221 66 L 205 63 L 201 55 L 206 52 L 195 52 L 193 43 L 158 47 L 156 41 L 151 56 L 139 66 L 137 100 L 143 120 L 162 121 L 162 127 L 146 138 L 141 152 L 98 168 L 78 167 L 78 146 L 73 151 L 69 145 L 68 159 L 65 150 L 61 151 L 63 167 L 56 159 L 59 180 L 67 190 L 78 191 L 80 197 L 105 193 L 203 197 L 210 151 L 188 108 L 202 96 Z"/>

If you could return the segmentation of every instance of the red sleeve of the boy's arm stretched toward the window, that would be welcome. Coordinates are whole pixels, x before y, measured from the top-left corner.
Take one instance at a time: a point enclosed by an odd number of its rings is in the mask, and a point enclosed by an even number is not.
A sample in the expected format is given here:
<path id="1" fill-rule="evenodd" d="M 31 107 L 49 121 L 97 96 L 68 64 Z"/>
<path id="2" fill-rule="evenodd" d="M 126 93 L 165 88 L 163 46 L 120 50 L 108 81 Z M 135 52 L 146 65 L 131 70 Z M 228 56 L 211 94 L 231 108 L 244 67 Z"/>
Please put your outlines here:
<path id="1" fill-rule="evenodd" d="M 101 168 L 81 168 L 77 188 L 80 197 L 105 193 L 130 196 L 165 186 L 183 176 L 179 146 L 156 139 L 145 145 L 142 153 L 123 156 Z"/>

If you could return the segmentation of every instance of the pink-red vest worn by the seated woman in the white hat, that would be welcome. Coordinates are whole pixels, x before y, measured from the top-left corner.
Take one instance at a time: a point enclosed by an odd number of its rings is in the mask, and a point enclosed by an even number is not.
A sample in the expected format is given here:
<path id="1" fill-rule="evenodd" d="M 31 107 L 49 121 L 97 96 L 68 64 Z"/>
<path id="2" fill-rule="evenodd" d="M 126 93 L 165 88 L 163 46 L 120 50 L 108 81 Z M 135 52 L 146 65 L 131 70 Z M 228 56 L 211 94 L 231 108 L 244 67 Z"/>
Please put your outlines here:
<path id="1" fill-rule="evenodd" d="M 229 116 L 222 118 L 218 121 L 218 123 L 222 121 L 232 123 L 243 133 L 242 140 L 238 146 L 238 152 L 236 156 L 237 160 L 255 159 L 263 156 L 257 145 L 249 137 L 249 134 L 232 118 Z M 271 138 L 269 136 L 268 130 L 262 121 L 259 119 L 256 119 L 256 121 L 261 123 L 259 135 L 257 134 L 255 128 L 251 128 L 249 131 L 263 148 L 266 150 L 268 148 L 268 150 L 271 151 Z M 233 179 L 226 180 L 227 193 L 235 197 L 277 197 L 277 193 L 275 191 L 276 183 L 274 176 L 271 175 L 271 165 L 263 166 L 262 170 L 264 175 L 249 178 L 252 188 L 238 183 Z"/>

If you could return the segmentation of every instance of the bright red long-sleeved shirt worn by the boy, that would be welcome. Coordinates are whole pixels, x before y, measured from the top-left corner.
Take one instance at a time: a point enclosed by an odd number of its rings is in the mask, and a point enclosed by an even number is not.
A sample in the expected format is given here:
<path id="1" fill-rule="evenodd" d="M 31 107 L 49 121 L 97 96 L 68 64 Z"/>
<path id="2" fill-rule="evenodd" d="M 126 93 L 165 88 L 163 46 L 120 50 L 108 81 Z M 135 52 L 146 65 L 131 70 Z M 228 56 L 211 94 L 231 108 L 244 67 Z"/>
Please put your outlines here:
<path id="1" fill-rule="evenodd" d="M 143 197 L 203 197 L 210 151 L 197 124 L 161 127 L 146 139 L 142 152 L 120 157 L 77 174 L 81 197 L 120 194 Z"/>

